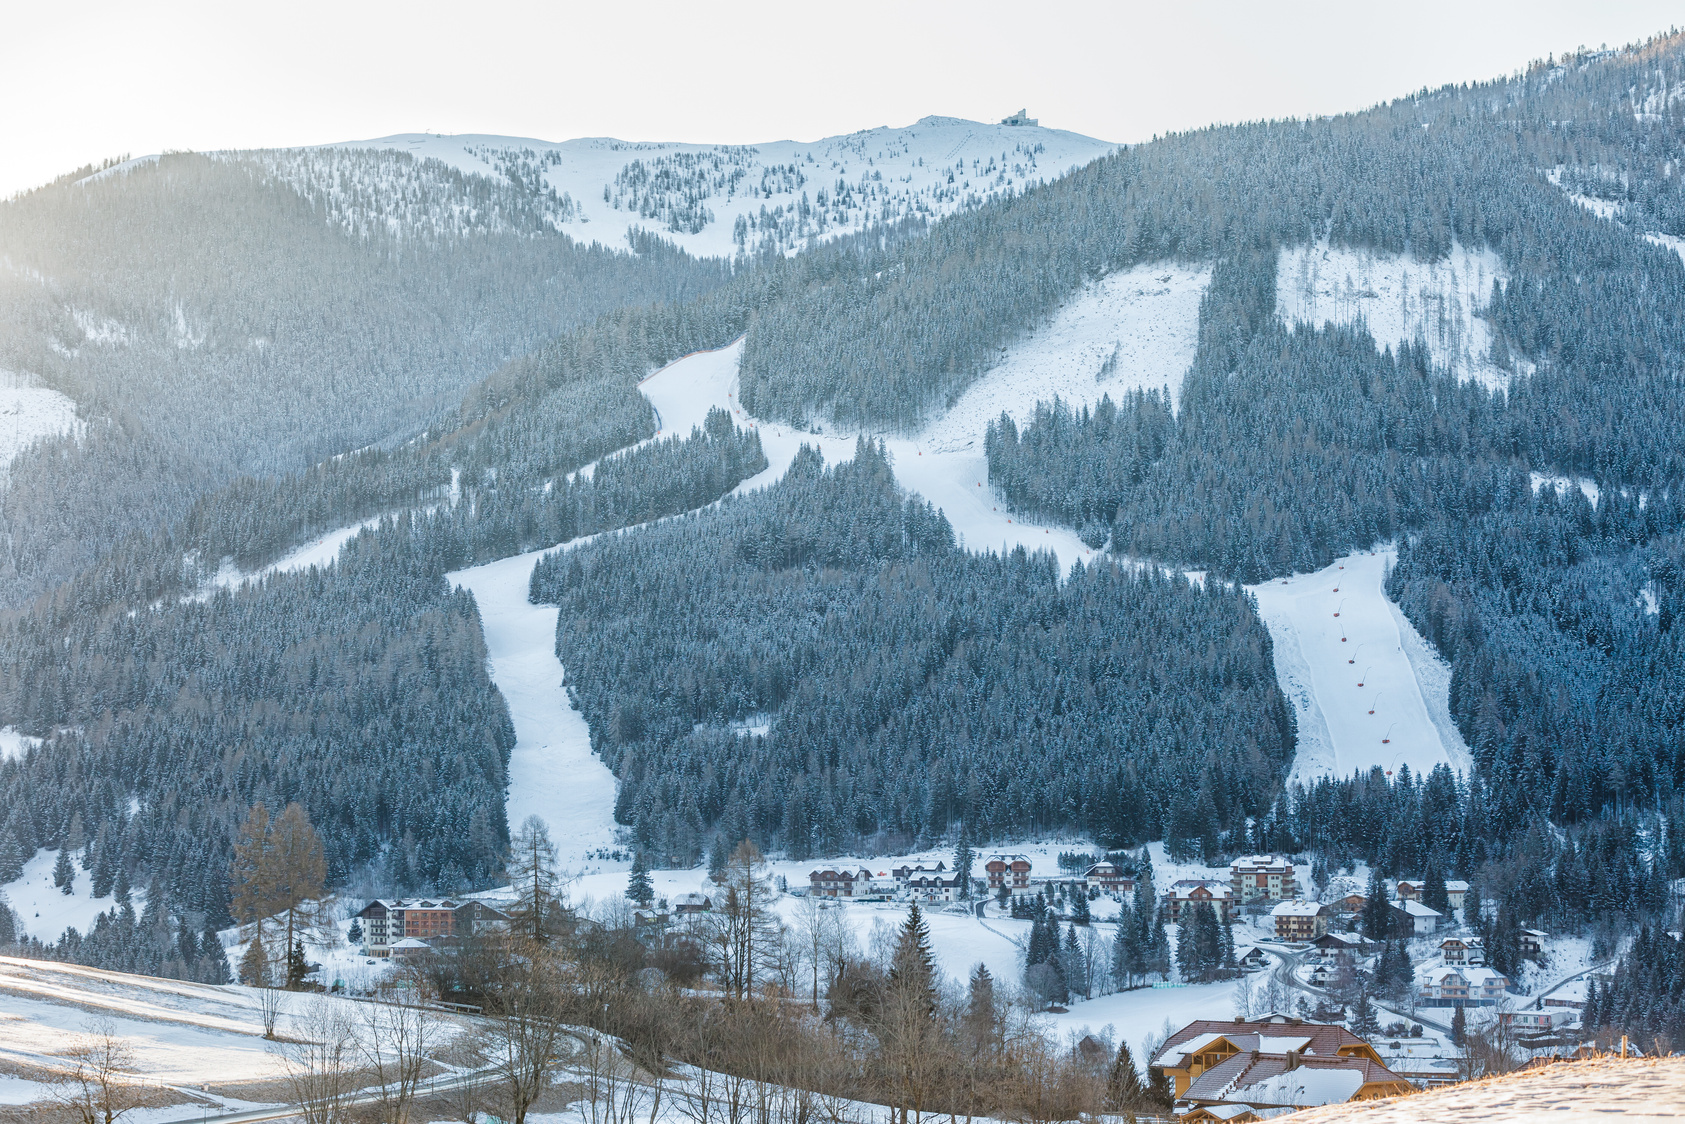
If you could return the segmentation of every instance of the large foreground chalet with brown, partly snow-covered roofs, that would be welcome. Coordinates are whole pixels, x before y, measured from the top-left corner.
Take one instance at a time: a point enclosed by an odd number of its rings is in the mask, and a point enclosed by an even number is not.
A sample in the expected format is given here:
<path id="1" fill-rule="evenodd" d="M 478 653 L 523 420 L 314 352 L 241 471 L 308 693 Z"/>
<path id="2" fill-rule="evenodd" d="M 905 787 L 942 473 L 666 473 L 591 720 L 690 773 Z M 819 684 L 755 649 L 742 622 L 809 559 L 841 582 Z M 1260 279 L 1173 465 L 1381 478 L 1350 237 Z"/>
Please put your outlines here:
<path id="1" fill-rule="evenodd" d="M 1345 1026 L 1282 1014 L 1190 1023 L 1147 1060 L 1147 1072 L 1166 1080 L 1188 1112 L 1218 1105 L 1294 1109 L 1409 1092 L 1375 1048 Z M 1200 1119 L 1238 1117 L 1208 1112 Z"/>

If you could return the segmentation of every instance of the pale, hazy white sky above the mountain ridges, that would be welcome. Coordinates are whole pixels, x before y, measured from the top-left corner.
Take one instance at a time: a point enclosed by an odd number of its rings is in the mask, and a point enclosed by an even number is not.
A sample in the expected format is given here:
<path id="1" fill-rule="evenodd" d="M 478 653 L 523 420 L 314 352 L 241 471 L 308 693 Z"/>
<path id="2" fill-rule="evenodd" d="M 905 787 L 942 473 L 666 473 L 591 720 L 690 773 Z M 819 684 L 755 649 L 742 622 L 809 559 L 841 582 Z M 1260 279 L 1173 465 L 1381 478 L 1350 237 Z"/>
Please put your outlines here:
<path id="1" fill-rule="evenodd" d="M 0 0 L 0 197 L 120 153 L 403 131 L 814 140 L 1026 106 L 1104 140 L 1358 110 L 1666 30 L 1650 0 Z"/>

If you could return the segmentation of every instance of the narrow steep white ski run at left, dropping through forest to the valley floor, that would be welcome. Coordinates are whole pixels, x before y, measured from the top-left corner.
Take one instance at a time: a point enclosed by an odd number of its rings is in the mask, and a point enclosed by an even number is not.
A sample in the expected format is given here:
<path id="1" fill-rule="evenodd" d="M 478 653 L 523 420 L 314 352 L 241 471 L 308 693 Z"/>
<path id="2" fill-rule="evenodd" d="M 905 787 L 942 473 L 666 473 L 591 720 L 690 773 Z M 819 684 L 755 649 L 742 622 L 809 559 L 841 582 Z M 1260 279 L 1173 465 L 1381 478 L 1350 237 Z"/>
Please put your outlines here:
<path id="1" fill-rule="evenodd" d="M 516 554 L 448 575 L 473 593 L 490 672 L 509 703 L 516 748 L 509 755 L 509 826 L 527 816 L 549 826 L 561 864 L 615 843 L 615 775 L 591 753 L 585 716 L 568 703 L 556 659 L 556 607 L 527 602 L 532 566 L 546 551 Z"/>

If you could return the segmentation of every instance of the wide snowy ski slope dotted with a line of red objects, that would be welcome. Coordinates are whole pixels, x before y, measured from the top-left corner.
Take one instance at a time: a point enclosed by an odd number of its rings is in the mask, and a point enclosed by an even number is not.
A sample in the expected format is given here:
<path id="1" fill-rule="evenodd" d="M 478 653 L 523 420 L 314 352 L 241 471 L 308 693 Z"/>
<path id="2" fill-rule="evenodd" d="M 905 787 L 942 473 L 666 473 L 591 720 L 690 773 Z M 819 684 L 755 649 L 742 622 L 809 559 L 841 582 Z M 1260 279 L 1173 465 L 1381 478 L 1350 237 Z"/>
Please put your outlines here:
<path id="1" fill-rule="evenodd" d="M 1451 667 L 1382 588 L 1395 551 L 1247 586 L 1276 647 L 1276 679 L 1299 720 L 1292 780 L 1380 765 L 1468 768 L 1451 721 Z M 1336 615 L 1338 613 L 1338 615 Z M 1373 713 L 1372 713 L 1373 711 Z"/>

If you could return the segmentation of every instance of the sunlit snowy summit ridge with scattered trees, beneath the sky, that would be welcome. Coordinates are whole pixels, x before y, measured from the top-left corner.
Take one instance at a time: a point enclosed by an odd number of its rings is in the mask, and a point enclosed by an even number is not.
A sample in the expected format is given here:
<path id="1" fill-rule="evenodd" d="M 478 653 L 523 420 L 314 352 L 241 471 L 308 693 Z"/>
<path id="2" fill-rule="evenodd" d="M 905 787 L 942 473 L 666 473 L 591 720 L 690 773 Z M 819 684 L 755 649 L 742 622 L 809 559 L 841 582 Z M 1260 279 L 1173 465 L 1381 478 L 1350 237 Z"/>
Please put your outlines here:
<path id="1" fill-rule="evenodd" d="M 399 133 L 327 148 L 408 152 L 517 185 L 526 197 L 543 195 L 549 222 L 586 241 L 618 244 L 627 227 L 640 226 L 694 254 L 730 256 L 762 246 L 790 251 L 910 216 L 944 217 L 1058 179 L 1114 145 L 1033 125 L 927 116 L 905 128 L 758 145 Z M 293 155 L 275 170 L 315 197 L 325 197 L 332 180 Z M 352 199 L 345 209 L 359 222 L 376 221 Z"/>

